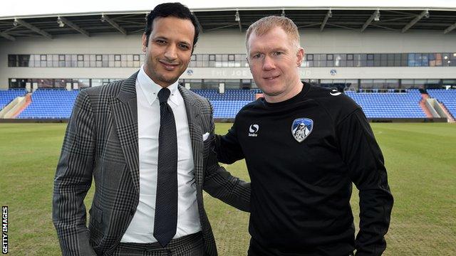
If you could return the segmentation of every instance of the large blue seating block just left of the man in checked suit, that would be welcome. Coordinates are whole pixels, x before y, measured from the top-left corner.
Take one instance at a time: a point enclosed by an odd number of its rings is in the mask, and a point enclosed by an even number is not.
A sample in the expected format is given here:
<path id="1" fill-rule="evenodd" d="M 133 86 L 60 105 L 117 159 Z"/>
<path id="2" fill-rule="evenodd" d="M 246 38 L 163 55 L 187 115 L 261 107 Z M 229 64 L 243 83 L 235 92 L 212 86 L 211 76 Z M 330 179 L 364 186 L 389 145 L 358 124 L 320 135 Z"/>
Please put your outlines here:
<path id="1" fill-rule="evenodd" d="M 78 92 L 78 90 L 36 90 L 31 95 L 31 104 L 17 118 L 70 118 Z"/>

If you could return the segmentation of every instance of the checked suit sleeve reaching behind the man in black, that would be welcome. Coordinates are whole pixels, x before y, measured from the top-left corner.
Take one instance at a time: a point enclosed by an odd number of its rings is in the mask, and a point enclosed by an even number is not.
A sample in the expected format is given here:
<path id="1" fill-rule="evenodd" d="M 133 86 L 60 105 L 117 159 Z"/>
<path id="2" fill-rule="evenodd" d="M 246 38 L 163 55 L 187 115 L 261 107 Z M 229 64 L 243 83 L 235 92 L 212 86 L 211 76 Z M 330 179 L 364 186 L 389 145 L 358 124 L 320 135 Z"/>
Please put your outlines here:
<path id="1" fill-rule="evenodd" d="M 210 103 L 209 103 L 210 105 Z M 210 117 L 210 147 L 207 156 L 207 168 L 204 172 L 204 191 L 214 198 L 219 198 L 239 210 L 250 211 L 250 183 L 232 176 L 222 166 L 219 166 L 215 152 L 214 120 Z"/>

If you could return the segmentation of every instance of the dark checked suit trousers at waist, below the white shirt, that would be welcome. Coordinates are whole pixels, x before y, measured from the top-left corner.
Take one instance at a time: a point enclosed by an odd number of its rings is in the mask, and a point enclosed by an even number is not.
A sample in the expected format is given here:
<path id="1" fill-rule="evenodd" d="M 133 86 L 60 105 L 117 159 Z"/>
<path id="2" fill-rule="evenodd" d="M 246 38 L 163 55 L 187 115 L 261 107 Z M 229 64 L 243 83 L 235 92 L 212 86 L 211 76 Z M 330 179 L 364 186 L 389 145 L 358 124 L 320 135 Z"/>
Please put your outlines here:
<path id="1" fill-rule="evenodd" d="M 165 247 L 158 242 L 120 242 L 113 256 L 204 256 L 201 232 L 171 240 Z"/>

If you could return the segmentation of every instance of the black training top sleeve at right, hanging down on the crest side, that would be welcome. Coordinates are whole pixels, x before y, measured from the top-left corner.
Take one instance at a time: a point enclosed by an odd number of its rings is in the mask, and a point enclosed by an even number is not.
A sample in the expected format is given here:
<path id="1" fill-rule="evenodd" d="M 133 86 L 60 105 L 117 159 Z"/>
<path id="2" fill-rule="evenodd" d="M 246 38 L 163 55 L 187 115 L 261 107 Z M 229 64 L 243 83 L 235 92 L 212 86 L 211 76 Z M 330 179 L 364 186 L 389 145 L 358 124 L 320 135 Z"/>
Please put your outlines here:
<path id="1" fill-rule="evenodd" d="M 336 126 L 336 133 L 351 180 L 359 190 L 356 255 L 382 255 L 393 208 L 382 152 L 361 109 L 343 119 Z"/>

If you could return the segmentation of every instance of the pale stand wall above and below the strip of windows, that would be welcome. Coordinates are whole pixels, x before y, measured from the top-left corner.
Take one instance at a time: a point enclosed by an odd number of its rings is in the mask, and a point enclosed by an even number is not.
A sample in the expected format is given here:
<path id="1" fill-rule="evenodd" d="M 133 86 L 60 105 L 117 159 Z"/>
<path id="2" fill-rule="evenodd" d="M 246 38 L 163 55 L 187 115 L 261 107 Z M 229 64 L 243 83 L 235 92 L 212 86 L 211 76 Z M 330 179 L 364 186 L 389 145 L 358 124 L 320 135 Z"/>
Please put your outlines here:
<path id="1" fill-rule="evenodd" d="M 303 30 L 301 46 L 306 53 L 456 53 L 456 33 L 442 31 L 363 32 Z M 246 53 L 245 35 L 238 30 L 202 33 L 195 53 Z M 8 68 L 8 54 L 142 54 L 141 34 L 118 33 L 46 38 L 17 38 L 0 42 L 0 88 L 8 87 L 8 78 L 127 78 L 136 68 Z M 248 68 L 190 68 L 187 79 L 249 79 Z M 335 69 L 336 75 L 330 70 Z M 456 78 L 456 67 L 416 68 L 301 68 L 302 78 Z"/>

